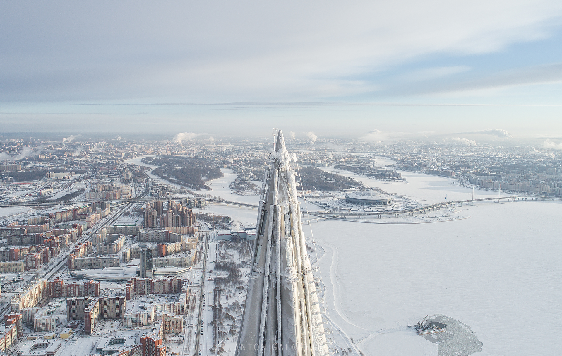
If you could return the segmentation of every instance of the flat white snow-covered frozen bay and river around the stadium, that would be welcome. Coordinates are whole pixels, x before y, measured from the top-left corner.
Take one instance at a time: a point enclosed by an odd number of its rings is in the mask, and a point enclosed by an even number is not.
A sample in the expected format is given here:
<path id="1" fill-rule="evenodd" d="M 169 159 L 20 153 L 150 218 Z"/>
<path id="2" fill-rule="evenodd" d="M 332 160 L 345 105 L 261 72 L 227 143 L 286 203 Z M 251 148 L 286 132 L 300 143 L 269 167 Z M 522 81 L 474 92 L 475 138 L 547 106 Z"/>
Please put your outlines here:
<path id="1" fill-rule="evenodd" d="M 472 196 L 456 179 L 402 173 L 408 183 L 342 172 L 423 204 L 446 195 L 447 200 Z M 495 194 L 475 191 L 475 197 Z M 256 211 L 247 208 L 210 209 L 242 222 L 256 219 Z M 556 224 L 562 203 L 479 202 L 456 209 L 469 218 L 305 226 L 305 234 L 310 237 L 312 228 L 325 251 L 320 272 L 330 319 L 366 356 L 437 356 L 437 344 L 407 327 L 428 314 L 445 314 L 472 328 L 483 343 L 478 355 L 562 354 L 556 341 L 562 332 L 562 241 Z"/>

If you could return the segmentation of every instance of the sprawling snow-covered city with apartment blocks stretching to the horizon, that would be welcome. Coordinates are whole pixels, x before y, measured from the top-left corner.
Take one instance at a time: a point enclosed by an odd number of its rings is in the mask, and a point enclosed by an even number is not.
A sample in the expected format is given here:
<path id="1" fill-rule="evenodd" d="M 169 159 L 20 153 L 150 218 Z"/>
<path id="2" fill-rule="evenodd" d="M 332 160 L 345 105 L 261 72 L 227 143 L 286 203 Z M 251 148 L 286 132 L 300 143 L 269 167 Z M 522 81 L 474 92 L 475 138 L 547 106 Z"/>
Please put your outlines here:
<path id="1" fill-rule="evenodd" d="M 83 342 L 92 355 L 232 355 L 225 348 L 241 326 L 256 226 L 210 208 L 257 208 L 271 142 L 79 138 L 0 142 L 0 351 L 53 356 Z M 562 195 L 560 153 L 528 145 L 286 144 L 298 154 L 298 196 L 317 221 L 454 219 L 423 216 L 447 201 L 425 204 L 362 182 L 408 183 L 406 172 L 479 191 Z M 225 173 L 233 176 L 228 195 L 209 187 Z M 90 348 L 88 337 L 98 335 Z M 347 339 L 334 340 L 343 352 Z"/>

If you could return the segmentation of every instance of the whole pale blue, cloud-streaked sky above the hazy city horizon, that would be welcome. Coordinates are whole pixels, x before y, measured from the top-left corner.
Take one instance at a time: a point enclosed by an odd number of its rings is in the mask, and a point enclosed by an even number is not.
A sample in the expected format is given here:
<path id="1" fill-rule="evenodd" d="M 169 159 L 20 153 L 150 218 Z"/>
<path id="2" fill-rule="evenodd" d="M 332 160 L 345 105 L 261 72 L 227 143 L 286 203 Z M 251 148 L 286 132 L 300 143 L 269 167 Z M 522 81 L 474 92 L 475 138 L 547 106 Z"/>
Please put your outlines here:
<path id="1" fill-rule="evenodd" d="M 4 1 L 0 132 L 558 145 L 561 20 L 540 0 Z"/>

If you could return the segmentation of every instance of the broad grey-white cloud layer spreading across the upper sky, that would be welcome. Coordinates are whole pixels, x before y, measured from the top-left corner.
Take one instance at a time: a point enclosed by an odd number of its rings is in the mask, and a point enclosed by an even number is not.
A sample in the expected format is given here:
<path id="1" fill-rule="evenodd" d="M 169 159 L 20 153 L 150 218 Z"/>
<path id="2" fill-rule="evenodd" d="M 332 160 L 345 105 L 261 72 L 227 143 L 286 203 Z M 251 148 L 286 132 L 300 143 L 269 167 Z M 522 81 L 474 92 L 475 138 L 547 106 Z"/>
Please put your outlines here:
<path id="1" fill-rule="evenodd" d="M 0 95 L 7 100 L 175 93 L 205 102 L 366 93 L 376 85 L 365 76 L 416 58 L 478 55 L 547 38 L 557 31 L 552 24 L 562 6 L 410 0 L 332 2 L 319 8 L 289 1 L 223 2 L 217 11 L 205 2 L 196 8 L 188 3 L 130 8 L 120 2 L 28 8 L 16 2 L 3 10 L 4 52 L 12 53 L 2 62 L 8 74 Z M 190 11 L 200 16 L 185 21 Z M 33 27 L 25 26 L 29 18 Z M 49 46 L 44 38 L 51 39 Z M 443 66 L 413 74 L 438 78 L 461 70 Z"/>

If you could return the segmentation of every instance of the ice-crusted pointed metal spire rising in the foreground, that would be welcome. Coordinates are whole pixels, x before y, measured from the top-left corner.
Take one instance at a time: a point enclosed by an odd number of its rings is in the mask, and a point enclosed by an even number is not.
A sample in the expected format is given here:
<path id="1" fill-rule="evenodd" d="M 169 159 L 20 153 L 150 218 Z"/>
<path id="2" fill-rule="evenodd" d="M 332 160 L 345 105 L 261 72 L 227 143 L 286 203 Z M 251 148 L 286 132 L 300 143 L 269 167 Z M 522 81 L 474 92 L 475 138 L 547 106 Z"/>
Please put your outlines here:
<path id="1" fill-rule="evenodd" d="M 236 356 L 324 356 L 328 343 L 291 168 L 297 157 L 281 130 L 270 159 Z"/>

